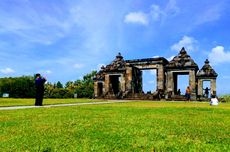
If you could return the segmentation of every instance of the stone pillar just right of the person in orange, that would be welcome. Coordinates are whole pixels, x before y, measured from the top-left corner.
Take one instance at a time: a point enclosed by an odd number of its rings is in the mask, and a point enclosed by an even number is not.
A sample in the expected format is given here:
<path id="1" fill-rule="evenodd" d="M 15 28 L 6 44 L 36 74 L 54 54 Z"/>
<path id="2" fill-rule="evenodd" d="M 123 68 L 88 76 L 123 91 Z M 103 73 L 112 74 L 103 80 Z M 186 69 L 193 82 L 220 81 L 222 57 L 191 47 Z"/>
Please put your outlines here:
<path id="1" fill-rule="evenodd" d="M 191 89 L 191 100 L 196 100 L 196 77 L 195 71 L 189 71 L 189 87 Z"/>

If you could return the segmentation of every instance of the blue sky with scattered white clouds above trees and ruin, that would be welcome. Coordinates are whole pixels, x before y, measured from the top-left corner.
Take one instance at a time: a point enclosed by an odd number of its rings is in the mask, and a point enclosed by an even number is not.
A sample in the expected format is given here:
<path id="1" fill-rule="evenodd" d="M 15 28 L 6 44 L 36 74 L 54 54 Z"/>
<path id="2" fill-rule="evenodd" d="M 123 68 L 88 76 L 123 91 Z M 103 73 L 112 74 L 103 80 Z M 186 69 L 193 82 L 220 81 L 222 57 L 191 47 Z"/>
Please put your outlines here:
<path id="1" fill-rule="evenodd" d="M 218 94 L 230 93 L 229 17 L 228 0 L 1 0 L 0 77 L 40 72 L 65 84 L 118 52 L 171 59 L 184 46 L 199 68 L 210 60 Z"/>

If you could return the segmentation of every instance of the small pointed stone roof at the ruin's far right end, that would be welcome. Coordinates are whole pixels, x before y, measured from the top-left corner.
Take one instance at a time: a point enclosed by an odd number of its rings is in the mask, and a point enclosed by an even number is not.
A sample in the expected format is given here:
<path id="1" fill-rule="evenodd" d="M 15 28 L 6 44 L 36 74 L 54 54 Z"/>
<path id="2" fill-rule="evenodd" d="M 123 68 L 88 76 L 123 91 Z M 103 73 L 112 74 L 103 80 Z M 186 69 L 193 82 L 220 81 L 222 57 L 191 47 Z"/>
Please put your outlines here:
<path id="1" fill-rule="evenodd" d="M 208 59 L 205 60 L 204 66 L 198 71 L 197 77 L 214 77 L 216 78 L 218 74 L 215 72 L 215 70 L 210 66 Z"/>

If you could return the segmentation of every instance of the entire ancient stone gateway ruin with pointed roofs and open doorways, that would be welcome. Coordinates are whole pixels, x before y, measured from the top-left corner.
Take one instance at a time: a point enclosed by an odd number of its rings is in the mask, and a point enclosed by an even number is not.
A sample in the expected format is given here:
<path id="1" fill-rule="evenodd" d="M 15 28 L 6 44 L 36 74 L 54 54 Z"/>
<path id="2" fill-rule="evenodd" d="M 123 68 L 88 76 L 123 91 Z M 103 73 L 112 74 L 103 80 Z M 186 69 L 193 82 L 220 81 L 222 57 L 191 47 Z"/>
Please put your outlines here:
<path id="1" fill-rule="evenodd" d="M 142 70 L 156 69 L 157 85 L 153 93 L 142 90 Z M 178 75 L 189 75 L 191 99 L 204 98 L 203 81 L 210 81 L 210 94 L 216 95 L 217 73 L 206 60 L 198 65 L 184 48 L 171 61 L 164 57 L 124 60 L 120 53 L 111 64 L 102 66 L 94 78 L 96 98 L 127 99 L 184 99 L 178 94 Z"/>

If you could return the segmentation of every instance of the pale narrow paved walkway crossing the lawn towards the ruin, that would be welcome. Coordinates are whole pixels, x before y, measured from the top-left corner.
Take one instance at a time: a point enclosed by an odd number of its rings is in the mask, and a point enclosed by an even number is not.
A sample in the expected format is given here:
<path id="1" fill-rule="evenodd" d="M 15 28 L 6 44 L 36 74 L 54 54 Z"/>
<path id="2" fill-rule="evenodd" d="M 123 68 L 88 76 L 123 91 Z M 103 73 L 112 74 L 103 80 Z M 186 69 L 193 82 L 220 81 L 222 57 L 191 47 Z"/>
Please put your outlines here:
<path id="1" fill-rule="evenodd" d="M 44 105 L 44 106 L 13 106 L 13 107 L 0 107 L 0 110 L 67 107 L 67 106 L 97 105 L 97 104 L 111 104 L 111 103 L 125 103 L 125 102 L 136 102 L 136 101 L 135 100 L 111 100 L 105 102 L 84 102 L 84 103 L 69 103 L 69 104 L 56 104 L 56 105 Z"/>

